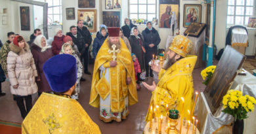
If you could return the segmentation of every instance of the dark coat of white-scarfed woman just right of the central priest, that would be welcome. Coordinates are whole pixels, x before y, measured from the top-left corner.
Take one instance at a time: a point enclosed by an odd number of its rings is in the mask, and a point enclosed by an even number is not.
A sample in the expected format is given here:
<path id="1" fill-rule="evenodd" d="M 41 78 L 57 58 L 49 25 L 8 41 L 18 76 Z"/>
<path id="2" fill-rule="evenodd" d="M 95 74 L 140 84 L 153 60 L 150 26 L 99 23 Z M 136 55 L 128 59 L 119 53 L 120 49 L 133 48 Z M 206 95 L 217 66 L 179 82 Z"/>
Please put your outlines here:
<path id="1" fill-rule="evenodd" d="M 143 37 L 142 35 L 139 34 L 140 40 L 142 42 L 142 46 L 144 46 L 144 41 L 143 41 Z M 134 35 L 131 35 L 129 37 L 129 42 L 131 44 L 131 52 L 133 54 L 135 54 L 139 60 L 140 63 L 140 70 L 144 70 L 145 66 L 144 66 L 144 52 L 142 51 L 142 48 L 139 44 L 139 39 L 137 39 L 137 37 L 135 37 Z M 145 46 L 144 46 L 145 47 Z"/>

